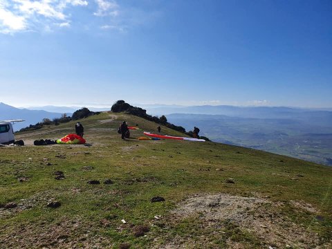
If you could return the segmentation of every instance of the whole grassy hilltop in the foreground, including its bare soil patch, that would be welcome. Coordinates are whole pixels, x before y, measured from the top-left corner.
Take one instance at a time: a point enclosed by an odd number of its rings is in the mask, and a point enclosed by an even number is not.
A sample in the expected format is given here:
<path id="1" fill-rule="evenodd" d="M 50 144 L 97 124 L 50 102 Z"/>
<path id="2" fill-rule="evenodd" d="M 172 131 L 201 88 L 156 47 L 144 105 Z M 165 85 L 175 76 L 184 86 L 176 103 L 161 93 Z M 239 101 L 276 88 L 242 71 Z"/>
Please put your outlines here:
<path id="1" fill-rule="evenodd" d="M 32 145 L 74 133 L 73 121 L 0 147 L 0 248 L 332 247 L 331 167 L 215 142 L 137 140 L 142 131 L 121 140 L 122 120 L 156 131 L 104 112 L 80 120 L 92 146 Z"/>

